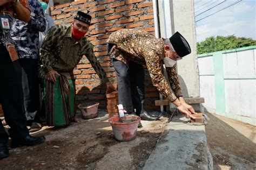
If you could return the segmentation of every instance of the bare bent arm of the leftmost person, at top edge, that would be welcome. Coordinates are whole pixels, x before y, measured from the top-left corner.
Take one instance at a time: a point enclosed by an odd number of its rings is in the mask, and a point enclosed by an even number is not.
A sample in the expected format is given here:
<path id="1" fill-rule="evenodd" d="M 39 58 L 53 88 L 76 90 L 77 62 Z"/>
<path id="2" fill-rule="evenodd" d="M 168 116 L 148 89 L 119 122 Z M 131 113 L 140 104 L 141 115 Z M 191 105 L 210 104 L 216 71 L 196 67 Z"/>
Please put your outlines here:
<path id="1" fill-rule="evenodd" d="M 12 8 L 14 8 L 15 11 L 15 18 L 24 21 L 25 23 L 29 23 L 31 20 L 30 17 L 30 10 L 28 1 L 26 0 L 11 0 Z"/>

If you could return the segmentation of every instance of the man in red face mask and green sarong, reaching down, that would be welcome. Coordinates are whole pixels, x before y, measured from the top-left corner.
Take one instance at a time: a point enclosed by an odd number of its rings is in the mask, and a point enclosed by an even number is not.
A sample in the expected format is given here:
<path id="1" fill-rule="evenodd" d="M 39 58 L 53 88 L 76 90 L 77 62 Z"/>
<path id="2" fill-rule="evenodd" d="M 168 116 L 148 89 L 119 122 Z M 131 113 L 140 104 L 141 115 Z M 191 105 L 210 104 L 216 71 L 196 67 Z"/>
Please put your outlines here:
<path id="1" fill-rule="evenodd" d="M 69 125 L 75 116 L 75 90 L 70 72 L 83 55 L 90 61 L 107 91 L 114 90 L 93 53 L 93 46 L 84 35 L 89 29 L 91 16 L 77 12 L 72 26 L 53 26 L 40 49 L 39 74 L 44 79 L 46 122 L 51 126 Z M 76 121 L 76 118 L 75 118 Z"/>

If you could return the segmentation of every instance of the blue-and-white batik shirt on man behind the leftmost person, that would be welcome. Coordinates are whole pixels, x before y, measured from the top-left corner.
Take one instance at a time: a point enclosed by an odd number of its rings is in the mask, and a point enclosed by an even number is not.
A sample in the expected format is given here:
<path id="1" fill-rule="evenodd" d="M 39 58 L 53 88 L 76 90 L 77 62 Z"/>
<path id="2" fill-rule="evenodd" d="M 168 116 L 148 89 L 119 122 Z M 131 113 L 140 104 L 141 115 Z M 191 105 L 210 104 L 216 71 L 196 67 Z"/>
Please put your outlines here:
<path id="1" fill-rule="evenodd" d="M 36 0 L 29 0 L 31 21 L 25 23 L 15 19 L 11 29 L 11 38 L 15 41 L 19 58 L 37 59 L 39 52 L 39 31 L 44 31 L 46 22 L 44 10 Z"/>

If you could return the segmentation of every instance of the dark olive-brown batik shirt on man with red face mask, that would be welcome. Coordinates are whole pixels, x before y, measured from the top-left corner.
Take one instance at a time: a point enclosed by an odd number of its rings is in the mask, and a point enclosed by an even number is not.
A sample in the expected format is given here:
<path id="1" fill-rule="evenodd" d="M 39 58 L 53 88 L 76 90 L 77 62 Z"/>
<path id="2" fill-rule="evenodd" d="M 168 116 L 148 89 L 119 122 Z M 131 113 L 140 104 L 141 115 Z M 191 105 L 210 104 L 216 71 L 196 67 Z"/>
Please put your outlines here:
<path id="1" fill-rule="evenodd" d="M 70 79 L 69 73 L 77 66 L 83 55 L 90 61 L 100 79 L 105 83 L 109 82 L 105 71 L 93 53 L 90 41 L 83 37 L 74 43 L 71 26 L 53 26 L 40 49 L 39 75 L 45 77 L 49 71 L 56 70 Z"/>

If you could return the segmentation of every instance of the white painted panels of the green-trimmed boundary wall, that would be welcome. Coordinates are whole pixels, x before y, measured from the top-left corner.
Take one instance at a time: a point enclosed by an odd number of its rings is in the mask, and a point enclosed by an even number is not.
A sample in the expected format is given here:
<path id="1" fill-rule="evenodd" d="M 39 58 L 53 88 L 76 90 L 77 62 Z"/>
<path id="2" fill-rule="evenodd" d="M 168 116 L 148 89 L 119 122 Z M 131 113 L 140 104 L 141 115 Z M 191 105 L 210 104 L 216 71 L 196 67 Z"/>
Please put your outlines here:
<path id="1" fill-rule="evenodd" d="M 213 55 L 198 58 L 203 106 L 215 112 Z M 256 49 L 223 53 L 225 108 L 231 118 L 256 125 Z M 251 118 L 251 119 L 250 119 Z"/>

